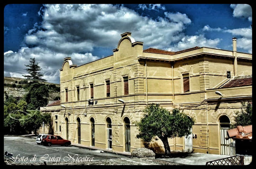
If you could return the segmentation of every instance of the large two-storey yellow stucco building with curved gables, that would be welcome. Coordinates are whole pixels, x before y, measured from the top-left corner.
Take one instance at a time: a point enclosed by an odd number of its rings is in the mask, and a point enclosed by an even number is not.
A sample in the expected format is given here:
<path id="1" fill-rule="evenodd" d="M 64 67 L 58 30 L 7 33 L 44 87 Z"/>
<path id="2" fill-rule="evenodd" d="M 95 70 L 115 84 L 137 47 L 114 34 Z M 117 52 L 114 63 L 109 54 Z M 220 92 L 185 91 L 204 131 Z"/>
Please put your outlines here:
<path id="1" fill-rule="evenodd" d="M 169 139 L 171 150 L 229 155 L 224 133 L 240 101 L 252 100 L 252 54 L 237 52 L 236 38 L 233 51 L 143 51 L 143 42 L 126 32 L 113 55 L 73 62 L 65 58 L 60 69 L 60 103 L 41 107 L 52 112 L 55 134 L 72 144 L 129 154 L 143 147 L 134 121 L 143 118 L 147 104 L 158 103 L 195 119 L 192 135 Z M 164 152 L 161 141 L 150 146 Z"/>

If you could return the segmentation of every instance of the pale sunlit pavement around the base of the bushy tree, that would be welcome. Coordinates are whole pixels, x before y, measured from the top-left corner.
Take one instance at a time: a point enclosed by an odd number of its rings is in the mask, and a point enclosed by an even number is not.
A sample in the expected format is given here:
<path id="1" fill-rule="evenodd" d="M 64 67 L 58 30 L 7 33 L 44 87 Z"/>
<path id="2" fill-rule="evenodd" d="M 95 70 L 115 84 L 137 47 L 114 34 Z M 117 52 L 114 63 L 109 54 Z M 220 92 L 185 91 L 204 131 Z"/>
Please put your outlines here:
<path id="1" fill-rule="evenodd" d="M 206 162 L 230 157 L 229 155 L 215 155 L 204 153 L 177 152 L 171 158 L 156 158 L 157 160 L 180 163 L 183 165 L 206 165 Z"/>

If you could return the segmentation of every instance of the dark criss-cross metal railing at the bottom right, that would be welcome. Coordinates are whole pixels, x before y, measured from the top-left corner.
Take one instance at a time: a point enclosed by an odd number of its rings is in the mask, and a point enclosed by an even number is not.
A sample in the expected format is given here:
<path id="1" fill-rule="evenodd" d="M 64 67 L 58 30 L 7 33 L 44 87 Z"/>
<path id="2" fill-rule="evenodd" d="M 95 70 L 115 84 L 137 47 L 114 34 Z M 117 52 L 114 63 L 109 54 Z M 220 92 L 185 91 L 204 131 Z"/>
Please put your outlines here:
<path id="1" fill-rule="evenodd" d="M 244 165 L 244 156 L 232 156 L 228 158 L 221 158 L 214 161 L 208 161 L 206 162 L 206 165 Z"/>

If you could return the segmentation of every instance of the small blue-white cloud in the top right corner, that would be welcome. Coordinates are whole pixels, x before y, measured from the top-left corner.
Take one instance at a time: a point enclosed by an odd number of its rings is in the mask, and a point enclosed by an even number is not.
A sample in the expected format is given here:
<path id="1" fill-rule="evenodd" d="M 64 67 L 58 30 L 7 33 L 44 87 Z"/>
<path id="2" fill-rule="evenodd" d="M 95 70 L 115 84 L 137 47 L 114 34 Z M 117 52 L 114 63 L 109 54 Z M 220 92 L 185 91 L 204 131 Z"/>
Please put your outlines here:
<path id="1" fill-rule="evenodd" d="M 231 8 L 234 9 L 233 17 L 244 17 L 252 21 L 252 7 L 248 4 L 231 4 Z"/>

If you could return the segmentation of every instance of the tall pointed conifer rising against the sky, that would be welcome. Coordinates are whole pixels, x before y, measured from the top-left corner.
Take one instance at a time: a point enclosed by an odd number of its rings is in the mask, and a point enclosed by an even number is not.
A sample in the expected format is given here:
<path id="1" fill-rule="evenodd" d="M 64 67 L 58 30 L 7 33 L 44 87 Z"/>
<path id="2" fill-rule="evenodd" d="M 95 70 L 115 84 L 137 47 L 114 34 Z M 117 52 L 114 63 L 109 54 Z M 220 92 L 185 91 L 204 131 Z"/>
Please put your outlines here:
<path id="1" fill-rule="evenodd" d="M 45 79 L 42 79 L 41 77 L 44 76 L 42 73 L 40 73 L 41 67 L 38 65 L 39 62 L 35 62 L 35 58 L 30 58 L 29 65 L 25 65 L 26 71 L 29 73 L 29 75 L 22 75 L 26 77 L 27 79 L 33 79 L 33 80 L 41 80 L 45 82 Z"/>

